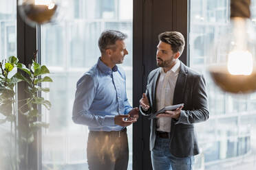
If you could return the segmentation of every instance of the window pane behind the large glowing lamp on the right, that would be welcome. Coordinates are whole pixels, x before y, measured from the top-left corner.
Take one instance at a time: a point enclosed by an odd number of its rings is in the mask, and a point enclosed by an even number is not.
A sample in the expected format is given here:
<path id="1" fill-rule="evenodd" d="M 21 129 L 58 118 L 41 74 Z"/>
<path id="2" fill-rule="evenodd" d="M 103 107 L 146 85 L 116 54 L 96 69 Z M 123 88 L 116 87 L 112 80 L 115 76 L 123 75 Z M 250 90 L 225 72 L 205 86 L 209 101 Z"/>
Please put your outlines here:
<path id="1" fill-rule="evenodd" d="M 204 74 L 210 119 L 196 125 L 201 154 L 195 169 L 255 169 L 256 95 L 237 97 L 223 93 L 206 73 L 206 58 L 214 38 L 229 22 L 229 0 L 191 0 L 190 66 Z M 252 1 L 256 27 L 256 1 Z"/>

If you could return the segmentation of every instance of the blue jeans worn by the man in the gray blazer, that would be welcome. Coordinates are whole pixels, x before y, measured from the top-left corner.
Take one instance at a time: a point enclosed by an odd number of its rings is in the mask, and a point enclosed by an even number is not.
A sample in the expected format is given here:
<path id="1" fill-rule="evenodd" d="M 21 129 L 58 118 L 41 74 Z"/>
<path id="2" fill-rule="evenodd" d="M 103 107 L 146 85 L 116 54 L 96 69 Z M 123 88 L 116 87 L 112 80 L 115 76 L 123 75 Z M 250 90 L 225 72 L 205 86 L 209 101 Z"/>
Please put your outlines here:
<path id="1" fill-rule="evenodd" d="M 154 170 L 192 170 L 194 157 L 178 158 L 170 153 L 169 138 L 156 136 L 155 146 L 151 151 Z"/>

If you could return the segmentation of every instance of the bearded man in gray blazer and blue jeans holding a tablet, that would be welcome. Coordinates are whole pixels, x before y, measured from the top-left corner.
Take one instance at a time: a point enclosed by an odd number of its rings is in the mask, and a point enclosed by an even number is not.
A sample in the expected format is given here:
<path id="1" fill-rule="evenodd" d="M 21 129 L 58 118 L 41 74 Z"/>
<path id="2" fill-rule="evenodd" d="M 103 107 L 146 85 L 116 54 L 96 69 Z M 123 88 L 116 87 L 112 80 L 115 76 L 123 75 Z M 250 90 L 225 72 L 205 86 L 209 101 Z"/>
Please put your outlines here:
<path id="1" fill-rule="evenodd" d="M 151 161 L 155 170 L 189 170 L 193 156 L 199 154 L 193 123 L 209 119 L 206 82 L 203 75 L 178 59 L 185 45 L 180 32 L 163 32 L 158 38 L 159 68 L 149 73 L 146 93 L 140 99 L 140 112 L 150 116 L 164 106 L 184 106 L 151 119 Z"/>

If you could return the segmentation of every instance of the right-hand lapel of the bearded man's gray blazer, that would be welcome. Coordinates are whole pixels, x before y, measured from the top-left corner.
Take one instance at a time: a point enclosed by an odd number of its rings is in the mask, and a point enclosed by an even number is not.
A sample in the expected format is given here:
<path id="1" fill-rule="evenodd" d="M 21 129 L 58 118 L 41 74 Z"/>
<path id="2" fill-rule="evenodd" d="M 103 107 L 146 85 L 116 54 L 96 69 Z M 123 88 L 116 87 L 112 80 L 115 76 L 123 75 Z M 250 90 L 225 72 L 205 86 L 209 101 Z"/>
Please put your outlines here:
<path id="1" fill-rule="evenodd" d="M 173 105 L 181 104 L 183 102 L 184 90 L 186 87 L 186 75 L 186 66 L 180 62 L 180 73 L 178 75 L 173 93 Z"/>

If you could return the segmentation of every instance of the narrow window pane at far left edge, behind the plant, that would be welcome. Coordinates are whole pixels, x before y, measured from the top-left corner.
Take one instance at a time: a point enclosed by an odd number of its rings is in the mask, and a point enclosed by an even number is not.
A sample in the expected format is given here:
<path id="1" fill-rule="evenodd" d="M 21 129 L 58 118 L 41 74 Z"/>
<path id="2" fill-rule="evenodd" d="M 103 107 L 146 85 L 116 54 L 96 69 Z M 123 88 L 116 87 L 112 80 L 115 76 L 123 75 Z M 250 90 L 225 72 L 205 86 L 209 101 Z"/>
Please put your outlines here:
<path id="1" fill-rule="evenodd" d="M 0 1 L 0 62 L 10 56 L 17 57 L 17 8 L 16 0 Z M 6 119 L 0 110 L 0 120 Z M 14 123 L 0 123 L 0 169 L 11 169 L 14 161 L 10 162 L 10 156 L 14 156 L 14 138 L 10 138 L 10 132 Z M 13 157 L 12 157 L 13 158 Z"/>

